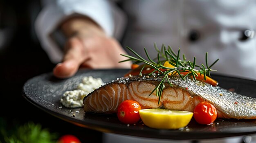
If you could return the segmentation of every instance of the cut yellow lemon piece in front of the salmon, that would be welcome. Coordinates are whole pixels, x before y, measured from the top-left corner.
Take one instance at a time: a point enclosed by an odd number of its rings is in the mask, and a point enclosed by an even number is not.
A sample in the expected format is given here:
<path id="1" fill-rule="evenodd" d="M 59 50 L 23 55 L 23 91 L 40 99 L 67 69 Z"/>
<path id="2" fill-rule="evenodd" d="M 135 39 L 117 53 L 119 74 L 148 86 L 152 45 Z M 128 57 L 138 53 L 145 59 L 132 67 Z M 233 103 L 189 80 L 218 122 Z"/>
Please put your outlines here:
<path id="1" fill-rule="evenodd" d="M 157 129 L 179 129 L 189 124 L 193 112 L 168 109 L 139 110 L 141 120 L 145 125 Z"/>

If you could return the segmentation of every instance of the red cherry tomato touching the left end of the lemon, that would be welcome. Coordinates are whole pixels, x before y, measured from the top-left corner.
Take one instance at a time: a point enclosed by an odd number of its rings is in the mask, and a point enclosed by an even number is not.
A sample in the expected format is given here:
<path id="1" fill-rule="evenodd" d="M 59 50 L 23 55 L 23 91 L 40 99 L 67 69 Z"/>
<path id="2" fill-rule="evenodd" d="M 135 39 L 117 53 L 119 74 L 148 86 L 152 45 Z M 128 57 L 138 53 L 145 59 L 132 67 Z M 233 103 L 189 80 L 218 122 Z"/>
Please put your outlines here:
<path id="1" fill-rule="evenodd" d="M 141 106 L 138 102 L 125 100 L 118 106 L 117 117 L 123 123 L 137 123 L 140 119 L 139 110 L 141 110 Z"/>

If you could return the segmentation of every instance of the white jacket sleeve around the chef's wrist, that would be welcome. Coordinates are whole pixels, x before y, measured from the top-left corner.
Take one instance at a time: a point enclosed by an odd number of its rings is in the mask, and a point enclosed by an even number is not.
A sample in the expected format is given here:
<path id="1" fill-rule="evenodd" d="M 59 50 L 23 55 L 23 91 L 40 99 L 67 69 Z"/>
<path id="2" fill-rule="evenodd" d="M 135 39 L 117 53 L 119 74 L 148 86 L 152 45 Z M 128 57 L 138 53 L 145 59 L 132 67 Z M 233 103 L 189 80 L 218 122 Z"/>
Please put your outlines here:
<path id="1" fill-rule="evenodd" d="M 91 18 L 108 36 L 114 33 L 114 22 L 107 0 L 60 0 L 47 5 L 36 19 L 35 30 L 41 46 L 54 63 L 61 62 L 63 51 L 49 35 L 63 20 L 74 15 L 85 15 Z"/>

